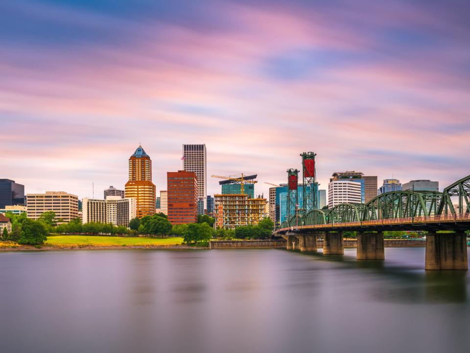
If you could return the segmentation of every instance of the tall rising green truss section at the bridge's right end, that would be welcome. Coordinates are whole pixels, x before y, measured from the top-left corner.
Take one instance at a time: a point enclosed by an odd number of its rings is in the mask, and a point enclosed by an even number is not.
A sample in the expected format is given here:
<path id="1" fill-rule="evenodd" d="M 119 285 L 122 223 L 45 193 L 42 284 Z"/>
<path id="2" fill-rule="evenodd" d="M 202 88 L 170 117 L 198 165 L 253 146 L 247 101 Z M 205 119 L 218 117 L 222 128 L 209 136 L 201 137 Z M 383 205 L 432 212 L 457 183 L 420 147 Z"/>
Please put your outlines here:
<path id="1" fill-rule="evenodd" d="M 437 208 L 438 215 L 442 215 L 443 212 L 447 215 L 448 211 L 450 211 L 452 215 L 470 212 L 470 176 L 466 176 L 447 186 L 442 194 L 441 202 Z M 455 209 L 452 204 L 451 197 L 458 198 L 458 209 Z"/>

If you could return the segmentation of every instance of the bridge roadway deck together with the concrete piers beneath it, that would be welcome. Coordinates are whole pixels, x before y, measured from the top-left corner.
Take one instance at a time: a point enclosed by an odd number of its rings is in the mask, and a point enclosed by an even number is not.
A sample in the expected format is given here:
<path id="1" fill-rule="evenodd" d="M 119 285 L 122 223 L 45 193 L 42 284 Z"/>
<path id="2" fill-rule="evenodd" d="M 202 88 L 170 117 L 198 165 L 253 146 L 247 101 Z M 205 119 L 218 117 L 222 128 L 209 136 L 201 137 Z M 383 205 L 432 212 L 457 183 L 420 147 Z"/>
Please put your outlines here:
<path id="1" fill-rule="evenodd" d="M 323 254 L 343 254 L 343 232 L 357 231 L 358 260 L 385 258 L 383 231 L 425 230 L 426 270 L 468 270 L 467 235 L 470 213 L 403 217 L 370 221 L 284 227 L 275 235 L 287 241 L 287 249 L 317 251 L 317 238 L 323 237 Z M 438 233 L 446 230 L 446 233 Z M 453 232 L 448 232 L 453 231 Z"/>

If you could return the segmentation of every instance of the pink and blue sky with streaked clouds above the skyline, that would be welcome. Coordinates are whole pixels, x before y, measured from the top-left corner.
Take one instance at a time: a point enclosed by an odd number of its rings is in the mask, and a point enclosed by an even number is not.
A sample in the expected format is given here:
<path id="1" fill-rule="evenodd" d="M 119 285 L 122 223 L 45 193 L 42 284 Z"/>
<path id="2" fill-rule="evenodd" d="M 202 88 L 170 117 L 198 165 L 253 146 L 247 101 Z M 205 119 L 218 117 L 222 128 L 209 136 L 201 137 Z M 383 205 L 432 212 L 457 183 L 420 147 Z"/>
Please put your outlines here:
<path id="1" fill-rule="evenodd" d="M 285 182 L 470 174 L 470 3 L 3 0 L 0 178 L 102 197 L 141 143 L 157 190 L 182 144 L 212 174 Z"/>

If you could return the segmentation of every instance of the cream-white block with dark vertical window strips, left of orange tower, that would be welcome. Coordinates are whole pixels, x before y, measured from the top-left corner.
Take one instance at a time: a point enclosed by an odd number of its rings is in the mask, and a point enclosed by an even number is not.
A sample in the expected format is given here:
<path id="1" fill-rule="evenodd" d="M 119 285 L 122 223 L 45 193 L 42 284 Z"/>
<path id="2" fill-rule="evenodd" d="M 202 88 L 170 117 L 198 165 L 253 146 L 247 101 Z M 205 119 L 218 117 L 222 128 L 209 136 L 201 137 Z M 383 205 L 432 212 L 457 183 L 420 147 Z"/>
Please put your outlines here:
<path id="1" fill-rule="evenodd" d="M 84 198 L 82 202 L 83 223 L 112 223 L 129 227 L 130 220 L 137 216 L 137 200 L 134 198 L 108 196 L 106 200 Z"/>

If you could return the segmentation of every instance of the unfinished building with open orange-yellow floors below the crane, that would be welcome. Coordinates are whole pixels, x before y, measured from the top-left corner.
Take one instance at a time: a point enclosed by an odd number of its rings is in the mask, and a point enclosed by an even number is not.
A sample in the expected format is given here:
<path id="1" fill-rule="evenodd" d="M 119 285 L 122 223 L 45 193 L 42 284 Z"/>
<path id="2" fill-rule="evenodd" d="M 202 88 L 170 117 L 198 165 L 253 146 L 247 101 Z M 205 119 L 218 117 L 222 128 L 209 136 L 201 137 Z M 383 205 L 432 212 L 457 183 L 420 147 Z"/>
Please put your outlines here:
<path id="1" fill-rule="evenodd" d="M 246 194 L 218 194 L 214 195 L 214 203 L 218 228 L 256 225 L 267 217 L 266 199 L 250 199 Z"/>

